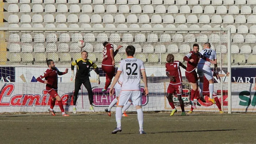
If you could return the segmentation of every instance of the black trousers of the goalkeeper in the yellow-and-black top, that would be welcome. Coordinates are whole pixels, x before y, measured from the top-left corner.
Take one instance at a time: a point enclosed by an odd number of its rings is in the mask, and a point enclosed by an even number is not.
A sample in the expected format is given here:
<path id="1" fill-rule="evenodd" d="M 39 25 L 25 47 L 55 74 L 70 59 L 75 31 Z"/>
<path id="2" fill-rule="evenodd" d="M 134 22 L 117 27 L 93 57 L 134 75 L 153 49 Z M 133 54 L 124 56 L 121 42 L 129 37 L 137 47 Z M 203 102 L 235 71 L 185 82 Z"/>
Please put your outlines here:
<path id="1" fill-rule="evenodd" d="M 76 79 L 75 79 L 75 91 L 74 91 L 74 97 L 73 97 L 73 105 L 76 105 L 78 92 L 79 92 L 79 90 L 81 90 L 82 84 L 84 84 L 86 90 L 88 91 L 90 105 L 92 105 L 93 104 L 93 90 L 91 89 L 91 83 L 90 83 L 89 77 L 85 78 L 85 79 L 78 79 L 76 77 Z"/>

